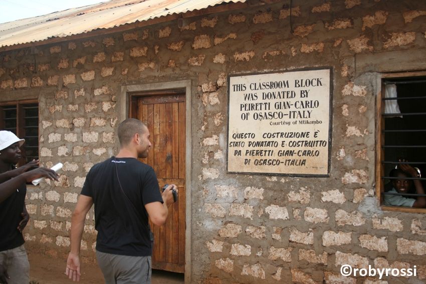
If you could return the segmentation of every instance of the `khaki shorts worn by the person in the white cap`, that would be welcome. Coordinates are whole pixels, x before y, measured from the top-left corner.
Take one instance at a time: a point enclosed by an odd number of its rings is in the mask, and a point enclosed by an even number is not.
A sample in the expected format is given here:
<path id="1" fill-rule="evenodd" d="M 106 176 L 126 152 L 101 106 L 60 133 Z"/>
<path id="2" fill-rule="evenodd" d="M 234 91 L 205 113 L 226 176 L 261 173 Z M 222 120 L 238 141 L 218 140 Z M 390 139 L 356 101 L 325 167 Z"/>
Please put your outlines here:
<path id="1" fill-rule="evenodd" d="M 9 274 L 9 284 L 30 282 L 30 262 L 24 245 L 0 251 L 0 264 Z"/>

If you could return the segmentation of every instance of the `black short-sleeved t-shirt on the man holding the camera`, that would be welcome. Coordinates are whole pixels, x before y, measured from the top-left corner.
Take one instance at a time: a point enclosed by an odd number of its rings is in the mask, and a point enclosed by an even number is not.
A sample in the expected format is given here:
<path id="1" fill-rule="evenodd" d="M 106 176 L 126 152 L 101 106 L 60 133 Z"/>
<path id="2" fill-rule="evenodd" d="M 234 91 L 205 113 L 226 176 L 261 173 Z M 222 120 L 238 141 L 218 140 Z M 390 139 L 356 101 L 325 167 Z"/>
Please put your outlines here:
<path id="1" fill-rule="evenodd" d="M 94 165 L 81 194 L 93 198 L 96 249 L 101 252 L 151 255 L 145 204 L 163 202 L 154 170 L 135 158 L 112 157 Z"/>

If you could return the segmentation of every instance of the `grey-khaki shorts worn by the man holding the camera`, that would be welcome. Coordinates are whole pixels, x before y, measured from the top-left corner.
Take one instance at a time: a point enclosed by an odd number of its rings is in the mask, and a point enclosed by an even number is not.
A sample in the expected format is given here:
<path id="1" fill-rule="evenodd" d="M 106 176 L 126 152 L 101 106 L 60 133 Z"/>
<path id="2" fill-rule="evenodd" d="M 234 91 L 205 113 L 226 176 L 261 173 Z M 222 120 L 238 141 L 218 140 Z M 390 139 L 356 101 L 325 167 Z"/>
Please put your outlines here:
<path id="1" fill-rule="evenodd" d="M 151 256 L 128 256 L 96 250 L 106 284 L 151 283 Z"/>

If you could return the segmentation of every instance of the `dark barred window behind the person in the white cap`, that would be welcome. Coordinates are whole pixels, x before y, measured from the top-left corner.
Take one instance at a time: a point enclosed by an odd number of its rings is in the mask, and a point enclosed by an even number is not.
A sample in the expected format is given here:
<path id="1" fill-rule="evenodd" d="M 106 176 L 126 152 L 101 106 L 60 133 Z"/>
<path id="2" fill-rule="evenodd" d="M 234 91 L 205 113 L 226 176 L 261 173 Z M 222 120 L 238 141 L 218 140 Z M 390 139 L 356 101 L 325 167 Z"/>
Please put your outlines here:
<path id="1" fill-rule="evenodd" d="M 0 104 L 0 129 L 9 130 L 25 143 L 21 148 L 24 165 L 39 157 L 39 104 L 37 101 L 8 102 Z"/>

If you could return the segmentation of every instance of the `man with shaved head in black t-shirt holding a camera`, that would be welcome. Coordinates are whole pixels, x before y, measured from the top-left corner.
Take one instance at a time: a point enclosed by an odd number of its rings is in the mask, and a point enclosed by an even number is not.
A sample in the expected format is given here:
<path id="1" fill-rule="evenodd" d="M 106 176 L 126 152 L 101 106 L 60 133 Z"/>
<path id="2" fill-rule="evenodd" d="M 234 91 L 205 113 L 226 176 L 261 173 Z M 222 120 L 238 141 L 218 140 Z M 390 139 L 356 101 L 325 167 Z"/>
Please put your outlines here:
<path id="1" fill-rule="evenodd" d="M 80 279 L 80 242 L 87 212 L 95 204 L 96 257 L 106 283 L 150 283 L 152 234 L 167 218 L 173 203 L 170 185 L 161 194 L 154 170 L 137 158 L 146 158 L 149 131 L 137 119 L 118 126 L 120 151 L 94 165 L 87 174 L 71 220 L 71 252 L 66 274 Z M 176 189 L 177 190 L 177 189 Z"/>

